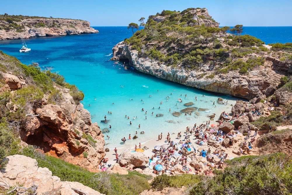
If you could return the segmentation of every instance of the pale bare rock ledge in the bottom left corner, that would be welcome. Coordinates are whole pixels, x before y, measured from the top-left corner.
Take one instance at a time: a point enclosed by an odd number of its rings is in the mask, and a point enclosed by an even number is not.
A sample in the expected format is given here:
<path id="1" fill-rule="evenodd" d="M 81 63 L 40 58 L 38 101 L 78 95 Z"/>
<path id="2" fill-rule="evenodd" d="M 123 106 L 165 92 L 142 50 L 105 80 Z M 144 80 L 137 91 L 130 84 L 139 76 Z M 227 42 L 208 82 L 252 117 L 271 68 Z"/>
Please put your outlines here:
<path id="1" fill-rule="evenodd" d="M 35 159 L 22 155 L 8 156 L 7 159 L 6 168 L 0 172 L 0 184 L 13 187 L 22 184 L 22 187 L 16 189 L 18 194 L 102 195 L 79 182 L 61 181 L 59 177 L 52 176 L 48 168 L 38 167 Z M 3 186 L 1 188 L 9 189 Z"/>

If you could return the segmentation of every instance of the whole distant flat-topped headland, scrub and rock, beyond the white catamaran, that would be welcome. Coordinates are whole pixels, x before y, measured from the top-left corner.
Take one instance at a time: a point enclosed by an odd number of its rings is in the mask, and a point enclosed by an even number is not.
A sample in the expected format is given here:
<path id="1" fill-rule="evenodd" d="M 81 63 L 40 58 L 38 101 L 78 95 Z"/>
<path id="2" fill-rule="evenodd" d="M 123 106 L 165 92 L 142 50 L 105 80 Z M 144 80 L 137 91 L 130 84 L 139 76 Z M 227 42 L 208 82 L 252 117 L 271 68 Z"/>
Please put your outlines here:
<path id="1" fill-rule="evenodd" d="M 84 20 L 0 15 L 0 40 L 98 33 Z"/>

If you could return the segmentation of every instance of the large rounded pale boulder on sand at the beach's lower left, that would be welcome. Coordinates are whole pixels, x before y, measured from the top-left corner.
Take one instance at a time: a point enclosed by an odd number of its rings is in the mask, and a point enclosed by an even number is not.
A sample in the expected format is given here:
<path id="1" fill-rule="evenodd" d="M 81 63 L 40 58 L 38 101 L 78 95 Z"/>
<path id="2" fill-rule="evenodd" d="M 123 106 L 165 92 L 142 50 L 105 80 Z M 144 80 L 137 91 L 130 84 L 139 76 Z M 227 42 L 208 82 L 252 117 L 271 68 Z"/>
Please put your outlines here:
<path id="1" fill-rule="evenodd" d="M 120 154 L 121 160 L 119 164 L 121 167 L 134 168 L 146 165 L 149 162 L 147 156 L 141 152 L 132 152 L 130 150 L 124 150 Z"/>

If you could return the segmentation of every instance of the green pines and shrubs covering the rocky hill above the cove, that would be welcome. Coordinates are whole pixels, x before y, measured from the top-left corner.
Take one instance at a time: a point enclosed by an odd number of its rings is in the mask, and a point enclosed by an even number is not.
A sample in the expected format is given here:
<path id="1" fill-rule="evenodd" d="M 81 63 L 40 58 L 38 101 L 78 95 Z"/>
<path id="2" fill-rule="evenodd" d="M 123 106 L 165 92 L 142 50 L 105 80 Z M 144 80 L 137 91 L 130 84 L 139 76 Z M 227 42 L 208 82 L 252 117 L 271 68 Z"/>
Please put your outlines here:
<path id="1" fill-rule="evenodd" d="M 202 65 L 210 64 L 215 74 L 227 74 L 231 70 L 246 74 L 262 66 L 265 58 L 260 57 L 261 52 L 269 51 L 260 39 L 242 35 L 243 25 L 219 28 L 206 9 L 164 10 L 150 15 L 146 22 L 145 18 L 139 22 L 141 29 L 124 43 L 137 50 L 139 57 L 173 68 L 200 70 Z M 251 56 L 252 53 L 258 57 Z M 246 56 L 250 57 L 246 59 Z"/>

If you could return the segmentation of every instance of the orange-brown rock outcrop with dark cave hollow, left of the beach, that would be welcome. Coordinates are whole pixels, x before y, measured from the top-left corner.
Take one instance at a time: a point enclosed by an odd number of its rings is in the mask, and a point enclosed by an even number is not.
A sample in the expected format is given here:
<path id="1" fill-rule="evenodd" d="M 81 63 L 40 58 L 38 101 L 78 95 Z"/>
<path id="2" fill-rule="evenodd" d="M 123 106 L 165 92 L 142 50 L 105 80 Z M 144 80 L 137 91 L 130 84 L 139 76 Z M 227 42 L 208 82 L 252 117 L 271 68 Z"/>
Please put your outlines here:
<path id="1" fill-rule="evenodd" d="M 27 85 L 15 75 L 5 73 L 3 77 L 6 85 L 2 88 L 13 91 Z M 90 113 L 83 104 L 74 102 L 69 89 L 58 89 L 62 100 L 54 105 L 45 95 L 40 105 L 30 110 L 30 114 L 36 116 L 27 116 L 22 122 L 20 138 L 49 155 L 95 171 L 105 156 L 104 135 L 97 123 L 91 123 Z"/>

